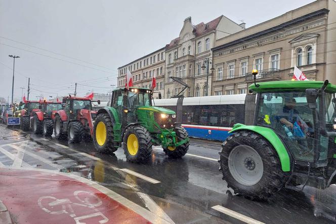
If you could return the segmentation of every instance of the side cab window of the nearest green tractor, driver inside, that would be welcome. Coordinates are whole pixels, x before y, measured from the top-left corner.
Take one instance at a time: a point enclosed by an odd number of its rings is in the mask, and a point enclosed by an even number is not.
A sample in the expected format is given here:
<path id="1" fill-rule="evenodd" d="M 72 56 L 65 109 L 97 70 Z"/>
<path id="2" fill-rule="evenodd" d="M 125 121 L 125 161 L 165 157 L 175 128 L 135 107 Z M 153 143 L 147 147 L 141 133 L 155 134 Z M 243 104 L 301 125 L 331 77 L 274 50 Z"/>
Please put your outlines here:
<path id="1" fill-rule="evenodd" d="M 305 92 L 263 93 L 257 125 L 272 128 L 287 143 L 295 159 L 314 160 L 314 119 Z"/>

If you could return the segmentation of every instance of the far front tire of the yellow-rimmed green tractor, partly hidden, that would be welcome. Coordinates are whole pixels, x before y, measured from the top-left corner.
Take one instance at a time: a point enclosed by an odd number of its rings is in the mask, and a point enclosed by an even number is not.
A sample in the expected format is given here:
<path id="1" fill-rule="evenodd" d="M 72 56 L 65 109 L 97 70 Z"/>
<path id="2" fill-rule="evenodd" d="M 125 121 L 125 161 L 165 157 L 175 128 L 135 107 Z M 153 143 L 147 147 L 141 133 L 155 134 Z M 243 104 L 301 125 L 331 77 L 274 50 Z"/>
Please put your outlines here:
<path id="1" fill-rule="evenodd" d="M 182 141 L 188 138 L 188 132 L 182 126 L 175 126 L 174 131 L 176 132 L 178 141 Z M 188 150 L 189 150 L 189 141 L 175 148 L 174 147 L 163 148 L 163 152 L 170 158 L 181 158 L 184 155 L 186 155 Z"/>

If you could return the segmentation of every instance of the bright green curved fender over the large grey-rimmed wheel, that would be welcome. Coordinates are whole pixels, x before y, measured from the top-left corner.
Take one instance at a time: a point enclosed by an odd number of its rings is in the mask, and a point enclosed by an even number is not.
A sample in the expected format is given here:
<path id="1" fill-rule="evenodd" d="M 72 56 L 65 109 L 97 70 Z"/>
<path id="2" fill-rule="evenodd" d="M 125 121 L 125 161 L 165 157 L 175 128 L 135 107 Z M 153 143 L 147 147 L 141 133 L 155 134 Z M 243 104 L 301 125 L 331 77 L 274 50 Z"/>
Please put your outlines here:
<path id="1" fill-rule="evenodd" d="M 283 145 L 280 138 L 272 129 L 262 126 L 247 126 L 238 123 L 233 126 L 232 130 L 229 131 L 229 133 L 233 133 L 240 130 L 253 131 L 266 138 L 273 145 L 275 151 L 278 154 L 282 171 L 284 172 L 290 171 L 290 159 L 286 147 Z"/>

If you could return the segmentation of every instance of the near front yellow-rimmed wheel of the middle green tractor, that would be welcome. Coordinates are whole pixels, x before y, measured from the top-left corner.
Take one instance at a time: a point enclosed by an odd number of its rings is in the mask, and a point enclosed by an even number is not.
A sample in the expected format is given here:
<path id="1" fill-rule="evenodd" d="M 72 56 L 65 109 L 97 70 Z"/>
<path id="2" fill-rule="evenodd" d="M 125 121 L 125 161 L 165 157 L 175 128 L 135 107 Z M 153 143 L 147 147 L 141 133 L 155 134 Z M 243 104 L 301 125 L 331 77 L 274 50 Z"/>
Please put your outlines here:
<path id="1" fill-rule="evenodd" d="M 131 141 L 132 138 L 136 138 L 136 143 Z M 152 138 L 148 130 L 141 125 L 131 126 L 125 131 L 122 147 L 130 162 L 147 163 L 152 156 Z M 132 151 L 132 147 L 136 150 Z"/>

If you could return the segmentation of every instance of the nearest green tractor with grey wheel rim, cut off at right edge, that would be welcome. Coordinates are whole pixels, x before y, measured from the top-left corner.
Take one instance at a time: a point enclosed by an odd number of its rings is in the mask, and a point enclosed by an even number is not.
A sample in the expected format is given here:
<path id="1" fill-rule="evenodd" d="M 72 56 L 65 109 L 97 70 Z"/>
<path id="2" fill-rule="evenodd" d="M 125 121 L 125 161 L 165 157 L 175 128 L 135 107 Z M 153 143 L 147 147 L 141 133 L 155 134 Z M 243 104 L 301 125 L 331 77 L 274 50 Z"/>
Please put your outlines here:
<path id="1" fill-rule="evenodd" d="M 246 125 L 233 126 L 219 153 L 228 188 L 265 200 L 283 187 L 325 189 L 336 183 L 336 86 L 328 81 L 256 84 L 258 71 L 253 74 Z"/>

